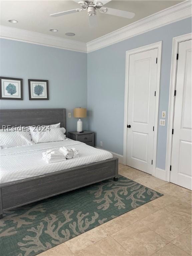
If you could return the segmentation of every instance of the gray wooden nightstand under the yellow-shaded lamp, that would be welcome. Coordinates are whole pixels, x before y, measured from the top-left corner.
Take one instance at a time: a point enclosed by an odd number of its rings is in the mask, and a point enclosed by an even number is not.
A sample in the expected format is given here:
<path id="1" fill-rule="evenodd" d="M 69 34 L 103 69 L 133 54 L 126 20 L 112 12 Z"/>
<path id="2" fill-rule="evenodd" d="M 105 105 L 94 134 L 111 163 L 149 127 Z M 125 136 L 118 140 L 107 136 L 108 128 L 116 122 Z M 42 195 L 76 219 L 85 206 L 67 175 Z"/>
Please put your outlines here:
<path id="1" fill-rule="evenodd" d="M 69 132 L 69 139 L 78 140 L 94 147 L 94 132 L 91 131 Z"/>

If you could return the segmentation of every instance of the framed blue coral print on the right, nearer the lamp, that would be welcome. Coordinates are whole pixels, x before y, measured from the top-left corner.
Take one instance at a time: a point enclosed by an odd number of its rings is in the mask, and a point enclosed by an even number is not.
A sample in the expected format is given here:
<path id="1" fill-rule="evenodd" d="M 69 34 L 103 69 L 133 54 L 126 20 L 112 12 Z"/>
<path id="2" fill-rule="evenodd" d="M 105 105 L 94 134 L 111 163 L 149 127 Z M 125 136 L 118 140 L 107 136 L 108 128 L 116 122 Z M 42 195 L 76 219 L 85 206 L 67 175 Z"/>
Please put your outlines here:
<path id="1" fill-rule="evenodd" d="M 28 79 L 29 100 L 48 100 L 48 80 Z"/>

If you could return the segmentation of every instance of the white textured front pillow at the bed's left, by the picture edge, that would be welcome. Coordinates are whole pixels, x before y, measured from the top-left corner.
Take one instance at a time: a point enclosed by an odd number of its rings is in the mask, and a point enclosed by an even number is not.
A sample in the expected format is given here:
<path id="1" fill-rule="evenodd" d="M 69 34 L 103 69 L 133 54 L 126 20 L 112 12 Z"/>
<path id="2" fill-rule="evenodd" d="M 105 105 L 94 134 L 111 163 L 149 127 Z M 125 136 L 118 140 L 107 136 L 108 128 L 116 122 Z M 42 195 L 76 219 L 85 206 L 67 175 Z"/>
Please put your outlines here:
<path id="1" fill-rule="evenodd" d="M 0 132 L 0 147 L 11 148 L 18 146 L 33 145 L 29 132 L 23 131 L 11 131 L 11 132 Z"/>

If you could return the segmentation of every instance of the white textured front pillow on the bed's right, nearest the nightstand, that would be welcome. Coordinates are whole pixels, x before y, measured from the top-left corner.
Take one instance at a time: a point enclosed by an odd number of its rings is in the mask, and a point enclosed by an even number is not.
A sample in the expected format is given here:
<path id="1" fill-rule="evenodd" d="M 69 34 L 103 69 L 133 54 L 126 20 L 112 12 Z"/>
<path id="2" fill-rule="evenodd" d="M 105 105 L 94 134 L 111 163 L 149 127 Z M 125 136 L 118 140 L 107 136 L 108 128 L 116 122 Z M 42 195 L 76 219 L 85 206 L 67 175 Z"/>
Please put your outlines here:
<path id="1" fill-rule="evenodd" d="M 66 139 L 66 135 L 63 134 L 63 128 L 50 128 L 45 130 L 35 129 L 34 126 L 30 126 L 31 138 L 35 143 L 63 141 Z"/>

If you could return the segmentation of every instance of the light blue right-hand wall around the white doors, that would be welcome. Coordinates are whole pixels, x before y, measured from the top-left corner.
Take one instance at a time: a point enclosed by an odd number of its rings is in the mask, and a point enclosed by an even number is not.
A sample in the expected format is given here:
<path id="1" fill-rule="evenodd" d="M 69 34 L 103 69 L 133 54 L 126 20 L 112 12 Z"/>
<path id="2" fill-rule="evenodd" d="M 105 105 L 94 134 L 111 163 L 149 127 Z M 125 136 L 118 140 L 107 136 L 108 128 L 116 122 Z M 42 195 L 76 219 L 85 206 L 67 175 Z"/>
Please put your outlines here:
<path id="1" fill-rule="evenodd" d="M 166 126 L 158 126 L 157 164 L 165 169 L 172 39 L 191 32 L 187 18 L 132 37 L 88 54 L 87 83 L 89 129 L 96 132 L 96 146 L 123 155 L 126 51 L 162 41 L 159 119 L 167 112 Z"/>

